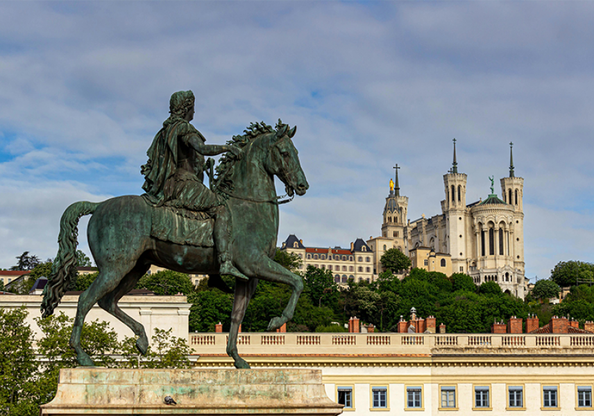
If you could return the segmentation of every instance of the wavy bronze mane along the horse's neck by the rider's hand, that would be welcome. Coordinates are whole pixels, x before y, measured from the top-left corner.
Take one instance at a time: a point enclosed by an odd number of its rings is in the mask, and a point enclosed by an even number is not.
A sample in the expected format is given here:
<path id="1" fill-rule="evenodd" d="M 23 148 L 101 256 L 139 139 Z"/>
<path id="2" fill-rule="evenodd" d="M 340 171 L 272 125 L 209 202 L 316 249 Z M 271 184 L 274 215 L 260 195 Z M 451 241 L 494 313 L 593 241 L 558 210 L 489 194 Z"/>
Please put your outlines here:
<path id="1" fill-rule="evenodd" d="M 233 136 L 232 140 L 227 141 L 229 146 L 235 146 L 238 148 L 244 148 L 248 143 L 254 141 L 257 137 L 261 135 L 265 135 L 266 133 L 275 133 L 278 131 L 279 128 L 282 128 L 283 124 L 278 119 L 278 123 L 276 124 L 275 128 L 272 128 L 271 125 L 267 125 L 264 121 L 260 121 L 260 123 L 250 123 L 246 130 L 244 130 L 244 135 L 237 135 Z M 230 153 L 225 153 L 220 159 L 219 164 L 215 171 L 214 177 L 214 191 L 219 193 L 220 195 L 228 198 L 226 192 L 230 192 L 233 189 L 233 167 L 235 166 L 235 162 L 237 160 L 230 155 Z"/>

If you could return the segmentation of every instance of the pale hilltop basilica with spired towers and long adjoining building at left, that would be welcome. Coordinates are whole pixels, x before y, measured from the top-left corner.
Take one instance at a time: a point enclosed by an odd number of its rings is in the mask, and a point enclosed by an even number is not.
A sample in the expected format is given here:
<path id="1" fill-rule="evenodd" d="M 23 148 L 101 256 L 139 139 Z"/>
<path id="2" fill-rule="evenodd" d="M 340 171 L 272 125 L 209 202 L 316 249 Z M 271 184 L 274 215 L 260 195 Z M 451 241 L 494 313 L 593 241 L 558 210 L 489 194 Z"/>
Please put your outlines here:
<path id="1" fill-rule="evenodd" d="M 309 264 L 328 268 L 337 283 L 346 284 L 348 279 L 373 281 L 384 270 L 380 261 L 384 252 L 397 248 L 410 257 L 412 267 L 448 276 L 466 273 L 477 285 L 495 281 L 502 291 L 523 298 L 527 291 L 524 179 L 514 174 L 511 146 L 509 176 L 500 179 L 503 199 L 495 193 L 491 177 L 491 194 L 484 200 L 467 203 L 468 177 L 458 171 L 454 141 L 452 168 L 443 175 L 441 214 L 408 219 L 409 198 L 400 195 L 396 165 L 396 181 L 390 181 L 382 214 L 381 236 L 370 237 L 366 242 L 356 239 L 350 248 L 310 248 L 291 234 L 281 250 L 298 254 L 303 259 L 303 269 Z"/>

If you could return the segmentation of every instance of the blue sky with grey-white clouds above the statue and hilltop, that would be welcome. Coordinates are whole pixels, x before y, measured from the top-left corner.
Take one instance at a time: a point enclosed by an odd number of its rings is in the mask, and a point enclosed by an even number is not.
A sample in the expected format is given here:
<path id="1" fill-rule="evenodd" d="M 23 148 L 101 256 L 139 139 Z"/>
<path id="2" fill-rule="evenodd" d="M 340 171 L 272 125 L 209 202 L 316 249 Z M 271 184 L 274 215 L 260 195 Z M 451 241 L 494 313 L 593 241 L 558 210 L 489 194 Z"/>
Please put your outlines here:
<path id="1" fill-rule="evenodd" d="M 279 244 L 379 235 L 395 163 L 409 218 L 439 214 L 456 137 L 467 202 L 514 142 L 527 277 L 592 261 L 593 21 L 585 1 L 1 2 L 0 268 L 55 256 L 71 202 L 141 193 L 180 89 L 209 143 L 298 125 L 310 190 Z"/>

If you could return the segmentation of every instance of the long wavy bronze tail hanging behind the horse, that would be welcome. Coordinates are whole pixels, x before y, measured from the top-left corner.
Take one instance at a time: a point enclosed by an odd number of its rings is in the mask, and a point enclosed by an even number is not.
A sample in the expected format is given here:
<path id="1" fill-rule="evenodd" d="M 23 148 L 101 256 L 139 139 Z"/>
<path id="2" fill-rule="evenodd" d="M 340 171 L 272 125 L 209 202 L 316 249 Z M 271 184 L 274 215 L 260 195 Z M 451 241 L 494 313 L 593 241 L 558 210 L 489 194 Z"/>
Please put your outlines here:
<path id="1" fill-rule="evenodd" d="M 60 234 L 58 236 L 58 255 L 53 260 L 51 275 L 43 290 L 41 303 L 42 316 L 45 318 L 53 313 L 62 296 L 66 292 L 72 279 L 76 279 L 76 241 L 78 237 L 78 218 L 93 214 L 101 202 L 74 202 L 60 219 Z"/>

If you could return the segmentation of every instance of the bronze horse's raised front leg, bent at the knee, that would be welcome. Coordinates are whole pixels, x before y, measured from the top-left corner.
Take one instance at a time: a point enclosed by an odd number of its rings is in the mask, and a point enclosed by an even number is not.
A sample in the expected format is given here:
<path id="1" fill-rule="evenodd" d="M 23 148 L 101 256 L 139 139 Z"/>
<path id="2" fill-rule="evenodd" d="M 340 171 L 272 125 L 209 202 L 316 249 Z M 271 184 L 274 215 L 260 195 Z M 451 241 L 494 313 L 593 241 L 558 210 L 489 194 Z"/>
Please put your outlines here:
<path id="1" fill-rule="evenodd" d="M 282 311 L 282 315 L 275 316 L 268 324 L 268 331 L 273 331 L 282 327 L 282 324 L 287 323 L 293 318 L 297 301 L 301 292 L 303 292 L 303 279 L 264 255 L 257 260 L 255 268 L 257 270 L 257 277 L 260 279 L 288 284 L 293 289 L 291 297 L 289 297 L 289 302 L 287 302 L 285 310 Z"/>

